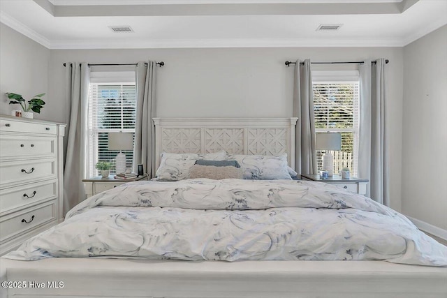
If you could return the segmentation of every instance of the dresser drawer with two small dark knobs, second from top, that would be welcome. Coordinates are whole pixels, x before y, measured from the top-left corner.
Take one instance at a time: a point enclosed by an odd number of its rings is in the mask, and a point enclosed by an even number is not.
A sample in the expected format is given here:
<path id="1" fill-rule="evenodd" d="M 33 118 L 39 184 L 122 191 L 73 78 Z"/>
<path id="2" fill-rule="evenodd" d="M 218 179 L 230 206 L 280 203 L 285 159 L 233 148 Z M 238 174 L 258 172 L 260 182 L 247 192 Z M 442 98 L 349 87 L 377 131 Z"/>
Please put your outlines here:
<path id="1" fill-rule="evenodd" d="M 55 156 L 56 137 L 17 137 L 2 135 L 0 158 L 22 159 L 30 157 Z"/>

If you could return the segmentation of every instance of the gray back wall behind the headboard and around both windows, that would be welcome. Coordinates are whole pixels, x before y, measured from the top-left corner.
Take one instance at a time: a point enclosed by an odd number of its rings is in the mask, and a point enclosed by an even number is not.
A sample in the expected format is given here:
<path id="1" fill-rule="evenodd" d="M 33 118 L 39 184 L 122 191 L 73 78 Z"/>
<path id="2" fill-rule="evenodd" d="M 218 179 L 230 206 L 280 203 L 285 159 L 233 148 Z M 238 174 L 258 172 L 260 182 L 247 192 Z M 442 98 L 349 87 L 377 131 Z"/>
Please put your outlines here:
<path id="1" fill-rule="evenodd" d="M 8 42 L 19 43 L 15 38 L 24 37 L 11 36 Z M 40 46 L 36 44 L 34 47 Z M 4 55 L 12 60 L 17 57 L 14 51 Z M 34 54 L 29 53 L 29 59 L 32 57 Z M 403 98 L 403 50 L 400 47 L 51 50 L 48 105 L 45 114 L 39 117 L 68 121 L 64 113 L 68 103 L 65 100 L 65 68 L 62 66 L 68 61 L 98 64 L 148 59 L 165 61 L 166 66 L 159 68 L 157 117 L 291 117 L 293 67 L 286 67 L 284 61 L 298 58 L 362 61 L 380 57 L 390 59 L 387 66 L 388 133 L 393 135 L 390 141 L 390 192 L 391 207 L 400 211 Z M 35 75 L 36 80 L 42 80 L 42 76 L 45 74 Z M 17 78 L 20 78 L 18 73 L 14 75 L 14 79 Z M 1 108 L 3 112 L 3 105 Z"/>

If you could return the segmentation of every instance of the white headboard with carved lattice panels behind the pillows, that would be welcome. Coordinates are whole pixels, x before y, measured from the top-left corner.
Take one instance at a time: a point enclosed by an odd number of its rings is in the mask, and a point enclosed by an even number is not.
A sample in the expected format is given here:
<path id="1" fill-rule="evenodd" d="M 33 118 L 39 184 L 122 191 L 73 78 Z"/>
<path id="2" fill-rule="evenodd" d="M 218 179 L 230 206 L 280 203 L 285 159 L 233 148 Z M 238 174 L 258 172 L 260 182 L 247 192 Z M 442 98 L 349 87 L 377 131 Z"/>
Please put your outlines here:
<path id="1" fill-rule="evenodd" d="M 161 153 L 280 155 L 295 166 L 298 118 L 154 118 L 156 168 Z"/>

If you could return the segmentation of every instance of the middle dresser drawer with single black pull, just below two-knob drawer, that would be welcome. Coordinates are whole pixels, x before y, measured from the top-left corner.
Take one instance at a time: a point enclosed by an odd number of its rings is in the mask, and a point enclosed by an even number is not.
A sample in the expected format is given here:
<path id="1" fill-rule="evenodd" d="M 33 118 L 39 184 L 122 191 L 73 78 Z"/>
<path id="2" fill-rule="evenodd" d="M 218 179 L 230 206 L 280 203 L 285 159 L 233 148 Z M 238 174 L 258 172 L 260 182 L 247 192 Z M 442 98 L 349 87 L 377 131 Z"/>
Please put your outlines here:
<path id="1" fill-rule="evenodd" d="M 36 179 L 56 178 L 55 163 L 55 158 L 0 163 L 0 186 L 14 186 Z"/>

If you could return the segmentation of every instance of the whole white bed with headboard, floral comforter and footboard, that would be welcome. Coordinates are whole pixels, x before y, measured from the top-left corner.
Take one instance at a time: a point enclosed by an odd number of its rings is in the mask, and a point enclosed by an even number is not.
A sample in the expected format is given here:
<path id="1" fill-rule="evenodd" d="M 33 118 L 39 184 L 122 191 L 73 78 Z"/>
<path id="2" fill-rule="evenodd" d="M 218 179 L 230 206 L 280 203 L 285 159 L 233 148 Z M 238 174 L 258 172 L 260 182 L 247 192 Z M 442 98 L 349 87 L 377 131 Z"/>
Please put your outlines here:
<path id="1" fill-rule="evenodd" d="M 1 258 L 2 294 L 446 297 L 446 246 L 369 198 L 282 179 L 296 120 L 155 119 L 159 179 L 95 195 Z M 175 158 L 238 161 L 246 179 L 184 179 Z"/>

